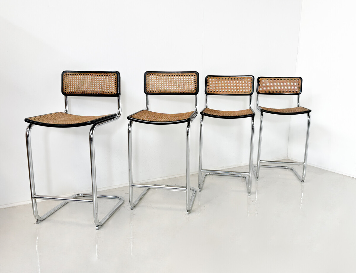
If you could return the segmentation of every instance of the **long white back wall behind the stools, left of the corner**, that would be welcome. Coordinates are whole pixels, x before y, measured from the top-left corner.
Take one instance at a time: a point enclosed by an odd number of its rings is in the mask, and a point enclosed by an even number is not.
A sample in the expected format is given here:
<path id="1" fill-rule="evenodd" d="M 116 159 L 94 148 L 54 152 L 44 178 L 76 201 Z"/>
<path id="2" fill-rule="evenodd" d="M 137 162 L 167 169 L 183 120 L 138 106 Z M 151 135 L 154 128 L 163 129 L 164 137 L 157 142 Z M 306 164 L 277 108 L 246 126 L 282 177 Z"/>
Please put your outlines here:
<path id="1" fill-rule="evenodd" d="M 301 0 L 296 1 L 1 1 L 0 2 L 0 205 L 30 200 L 25 117 L 63 111 L 63 70 L 118 70 L 122 116 L 96 130 L 98 188 L 126 184 L 126 116 L 143 109 L 147 70 L 197 70 L 199 111 L 208 74 L 294 75 Z M 307 93 L 307 92 L 305 92 Z M 231 97 L 229 97 L 231 98 Z M 161 102 L 168 103 L 164 106 Z M 254 95 L 255 100 L 255 95 Z M 105 114 L 116 101 L 70 98 L 70 113 Z M 98 103 L 97 103 L 98 102 Z M 213 101 L 211 107 L 236 105 Z M 247 101 L 245 101 L 247 105 Z M 277 101 L 286 103 L 291 101 Z M 244 105 L 244 106 L 245 106 Z M 155 97 L 150 109 L 190 111 L 193 97 Z M 259 118 L 257 114 L 257 119 Z M 205 119 L 204 167 L 247 164 L 249 121 Z M 220 123 L 221 122 L 221 123 Z M 231 125 L 234 124 L 234 125 Z M 185 124 L 133 124 L 135 181 L 185 172 Z M 256 129 L 258 121 L 256 122 Z M 276 133 L 287 155 L 289 119 L 269 120 L 266 141 Z M 68 194 L 90 189 L 89 127 L 32 129 L 37 192 Z M 256 130 L 256 136 L 258 130 Z M 216 139 L 224 136 L 215 145 Z M 191 129 L 191 171 L 198 170 L 199 116 Z M 257 143 L 257 137 L 255 137 Z M 208 146 L 210 144 L 210 146 Z M 255 149 L 256 150 L 256 149 Z M 192 181 L 197 186 L 197 181 Z"/>

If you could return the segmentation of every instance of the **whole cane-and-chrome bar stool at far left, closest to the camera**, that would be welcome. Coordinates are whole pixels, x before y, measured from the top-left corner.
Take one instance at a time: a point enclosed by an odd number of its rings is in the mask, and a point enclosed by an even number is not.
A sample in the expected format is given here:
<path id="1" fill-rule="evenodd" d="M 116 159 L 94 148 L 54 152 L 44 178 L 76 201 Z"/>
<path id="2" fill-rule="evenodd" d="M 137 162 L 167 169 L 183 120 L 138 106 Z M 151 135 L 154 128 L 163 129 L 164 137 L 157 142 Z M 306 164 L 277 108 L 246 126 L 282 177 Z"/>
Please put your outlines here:
<path id="1" fill-rule="evenodd" d="M 28 173 L 30 176 L 31 200 L 33 215 L 36 218 L 36 223 L 45 220 L 49 215 L 62 208 L 68 202 L 84 202 L 93 204 L 94 223 L 96 229 L 99 229 L 109 217 L 124 203 L 124 198 L 121 196 L 98 195 L 96 190 L 96 173 L 95 173 L 95 153 L 94 153 L 94 131 L 100 125 L 114 121 L 121 115 L 120 101 L 120 73 L 118 71 L 63 71 L 62 72 L 62 94 L 64 95 L 65 110 L 64 112 L 56 112 L 45 114 L 36 117 L 25 118 L 25 122 L 30 123 L 26 129 L 26 147 L 28 160 Z M 117 113 L 106 114 L 103 116 L 78 116 L 68 114 L 68 96 L 100 96 L 100 97 L 116 97 L 117 98 Z M 36 194 L 35 180 L 33 176 L 32 149 L 30 132 L 33 125 L 45 127 L 80 127 L 91 125 L 89 131 L 90 145 L 90 162 L 91 162 L 91 187 L 92 193 L 79 193 L 71 197 L 61 196 L 46 196 Z M 108 214 L 100 221 L 98 217 L 98 198 L 117 199 L 116 205 Z M 37 210 L 37 199 L 54 200 L 62 203 L 49 210 L 49 212 L 40 216 Z"/>

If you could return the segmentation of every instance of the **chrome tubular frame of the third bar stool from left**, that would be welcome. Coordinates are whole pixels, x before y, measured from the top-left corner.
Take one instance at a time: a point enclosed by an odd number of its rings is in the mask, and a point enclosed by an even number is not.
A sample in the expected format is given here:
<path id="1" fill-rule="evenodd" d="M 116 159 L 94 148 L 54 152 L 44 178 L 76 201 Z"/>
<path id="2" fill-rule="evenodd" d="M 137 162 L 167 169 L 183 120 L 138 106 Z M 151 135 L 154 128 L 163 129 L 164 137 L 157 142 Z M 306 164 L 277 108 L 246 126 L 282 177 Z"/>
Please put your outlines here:
<path id="1" fill-rule="evenodd" d="M 250 95 L 249 99 L 249 108 L 251 109 L 251 101 L 252 95 Z M 205 97 L 205 108 L 208 107 L 208 95 Z M 203 123 L 204 116 L 201 115 L 200 118 L 200 140 L 199 140 L 199 173 L 198 173 L 198 188 L 199 192 L 203 188 L 205 177 L 207 175 L 222 175 L 222 176 L 235 176 L 235 177 L 243 177 L 246 180 L 247 194 L 251 194 L 252 181 L 251 181 L 251 173 L 252 173 L 252 160 L 253 160 L 253 136 L 254 136 L 254 128 L 255 128 L 255 118 L 251 117 L 251 139 L 250 139 L 250 157 L 248 160 L 248 172 L 234 172 L 234 171 L 218 171 L 218 170 L 207 170 L 202 168 L 203 161 Z"/>

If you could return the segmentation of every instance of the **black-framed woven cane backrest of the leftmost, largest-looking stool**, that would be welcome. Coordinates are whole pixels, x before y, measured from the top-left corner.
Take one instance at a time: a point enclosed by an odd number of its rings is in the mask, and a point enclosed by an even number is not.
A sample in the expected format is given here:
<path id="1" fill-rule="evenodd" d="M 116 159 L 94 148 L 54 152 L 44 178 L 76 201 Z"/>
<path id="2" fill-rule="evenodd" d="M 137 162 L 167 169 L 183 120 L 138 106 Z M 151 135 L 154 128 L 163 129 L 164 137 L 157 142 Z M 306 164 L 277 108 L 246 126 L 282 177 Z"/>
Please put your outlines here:
<path id="1" fill-rule="evenodd" d="M 63 71 L 62 93 L 66 96 L 119 96 L 117 71 Z"/>

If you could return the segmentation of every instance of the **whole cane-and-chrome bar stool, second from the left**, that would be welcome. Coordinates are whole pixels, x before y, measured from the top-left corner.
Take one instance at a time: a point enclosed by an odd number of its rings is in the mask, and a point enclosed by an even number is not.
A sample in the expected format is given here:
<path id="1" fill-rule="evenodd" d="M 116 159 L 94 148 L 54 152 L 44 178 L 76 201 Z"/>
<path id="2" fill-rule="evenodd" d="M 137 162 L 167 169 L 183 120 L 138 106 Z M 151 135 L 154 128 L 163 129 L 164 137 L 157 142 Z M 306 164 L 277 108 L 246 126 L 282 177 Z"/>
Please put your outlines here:
<path id="1" fill-rule="evenodd" d="M 190 187 L 190 123 L 197 116 L 198 107 L 198 92 L 199 92 L 199 73 L 196 71 L 189 72 L 159 72 L 147 71 L 143 77 L 143 89 L 146 94 L 146 109 L 133 113 L 128 116 L 128 138 L 129 138 L 129 200 L 131 209 L 133 209 L 149 189 L 167 189 L 173 191 L 185 192 L 185 208 L 187 214 L 192 209 L 193 202 L 196 196 L 196 189 Z M 195 109 L 187 113 L 166 114 L 148 111 L 149 95 L 195 95 Z M 187 122 L 187 160 L 186 160 L 186 175 L 185 186 L 177 185 L 162 185 L 162 184 L 137 184 L 132 182 L 132 139 L 131 130 L 132 123 L 140 122 L 146 124 L 177 124 Z M 133 188 L 142 188 L 140 196 L 134 201 Z M 192 191 L 190 196 L 189 191 Z"/>

